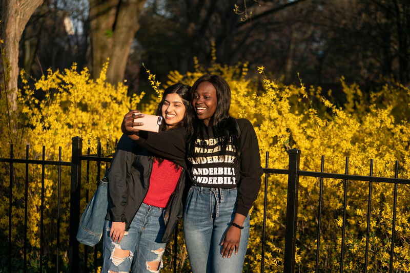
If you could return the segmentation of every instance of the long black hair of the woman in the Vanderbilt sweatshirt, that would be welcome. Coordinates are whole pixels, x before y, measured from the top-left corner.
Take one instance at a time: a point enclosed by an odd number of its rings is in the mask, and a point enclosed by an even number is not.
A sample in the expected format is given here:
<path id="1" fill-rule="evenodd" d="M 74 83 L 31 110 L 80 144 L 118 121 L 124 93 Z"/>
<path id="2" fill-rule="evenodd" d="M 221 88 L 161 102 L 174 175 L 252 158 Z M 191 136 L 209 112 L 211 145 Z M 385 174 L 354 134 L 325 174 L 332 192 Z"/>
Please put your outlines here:
<path id="1" fill-rule="evenodd" d="M 236 127 L 237 123 L 234 118 L 229 115 L 229 109 L 231 107 L 231 88 L 223 77 L 214 74 L 205 74 L 194 82 L 189 96 L 191 102 L 199 83 L 203 81 L 211 82 L 216 90 L 216 110 L 210 120 L 210 124 L 213 125 L 212 130 L 215 138 L 221 141 L 221 154 L 223 155 L 226 152 L 228 144 L 233 144 L 236 157 L 238 158 L 240 157 L 240 140 Z M 191 107 L 189 111 L 194 112 L 193 107 Z M 188 145 L 188 157 L 195 158 L 195 142 L 198 138 L 204 140 L 204 124 L 195 113 L 190 113 L 189 116 L 194 116 L 194 118 L 189 120 L 191 124 L 187 127 L 186 143 Z M 205 143 L 205 141 L 202 141 L 202 143 Z M 236 163 L 238 163 L 238 160 Z"/>

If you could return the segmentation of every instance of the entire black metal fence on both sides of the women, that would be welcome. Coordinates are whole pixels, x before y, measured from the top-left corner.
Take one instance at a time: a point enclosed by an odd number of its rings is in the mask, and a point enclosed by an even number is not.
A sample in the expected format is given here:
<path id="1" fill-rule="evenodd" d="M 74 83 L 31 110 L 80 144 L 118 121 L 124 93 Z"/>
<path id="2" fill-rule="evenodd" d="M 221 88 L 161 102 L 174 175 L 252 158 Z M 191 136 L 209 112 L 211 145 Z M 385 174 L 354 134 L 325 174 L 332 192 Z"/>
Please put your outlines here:
<path id="1" fill-rule="evenodd" d="M 37 164 L 42 166 L 42 202 L 41 202 L 41 216 L 40 216 L 40 253 L 43 253 L 43 228 L 44 228 L 44 181 L 45 181 L 45 166 L 55 165 L 58 168 L 58 208 L 57 208 L 57 244 L 56 244 L 56 272 L 60 272 L 59 269 L 59 236 L 60 236 L 60 183 L 61 183 L 61 167 L 71 166 L 71 188 L 70 188 L 70 223 L 69 223 L 69 248 L 68 248 L 68 259 L 69 259 L 69 272 L 79 272 L 79 243 L 76 240 L 76 233 L 80 218 L 80 191 L 81 191 L 81 163 L 83 161 L 87 162 L 87 179 L 89 179 L 90 161 L 95 161 L 97 165 L 97 175 L 96 183 L 101 177 L 101 164 L 103 162 L 110 162 L 111 158 L 101 157 L 101 146 L 98 144 L 98 152 L 96 156 L 90 155 L 90 149 L 88 153 L 83 155 L 83 143 L 82 139 L 79 137 L 72 138 L 72 157 L 71 162 L 61 161 L 61 148 L 59 148 L 58 161 L 45 160 L 45 146 L 43 146 L 43 159 L 42 160 L 31 160 L 29 159 L 29 147 L 26 146 L 26 158 L 16 159 L 13 158 L 13 145 L 10 146 L 10 158 L 0 158 L 0 162 L 8 162 L 10 164 L 10 190 L 9 190 L 9 238 L 8 244 L 9 249 L 11 249 L 11 229 L 12 229 L 12 185 L 13 185 L 13 167 L 14 164 L 24 164 L 26 168 L 26 181 L 25 181 L 25 219 L 24 219 L 24 247 L 22 249 L 24 253 L 24 273 L 27 272 L 27 200 L 28 200 L 28 166 L 29 164 Z M 299 177 L 309 176 L 320 178 L 320 191 L 319 191 L 319 203 L 318 203 L 318 232 L 317 232 L 317 247 L 316 247 L 316 264 L 315 271 L 318 272 L 319 269 L 319 245 L 320 245 L 320 224 L 321 224 L 321 204 L 323 200 L 323 179 L 340 179 L 344 181 L 344 199 L 343 199 L 343 223 L 342 223 L 342 244 L 340 249 L 340 272 L 343 272 L 343 259 L 344 259 L 344 241 L 345 241 L 345 226 L 346 226 L 346 201 L 347 201 L 347 183 L 348 181 L 367 181 L 368 182 L 368 207 L 367 207 L 367 232 L 366 232 L 366 247 L 365 247 L 365 265 L 367 265 L 368 257 L 368 238 L 370 232 L 370 209 L 372 202 L 372 183 L 373 182 L 383 182 L 383 183 L 393 183 L 394 184 L 394 215 L 393 215 L 393 227 L 392 227 L 392 244 L 391 244 L 391 257 L 389 272 L 393 271 L 393 258 L 394 258 L 394 238 L 395 238 L 395 225 L 396 225 L 396 205 L 397 205 L 397 185 L 398 184 L 410 184 L 409 179 L 398 179 L 398 162 L 396 161 L 396 171 L 395 178 L 384 178 L 384 177 L 374 177 L 373 176 L 373 160 L 371 160 L 370 175 L 369 176 L 358 176 L 348 174 L 348 158 L 345 162 L 345 174 L 333 174 L 324 173 L 324 156 L 321 158 L 321 171 L 320 172 L 308 172 L 299 170 L 299 160 L 300 160 L 300 150 L 292 149 L 289 151 L 289 169 L 269 169 L 269 153 L 266 156 L 266 167 L 263 169 L 265 173 L 264 180 L 264 211 L 263 211 L 263 230 L 262 230 L 262 259 L 260 271 L 264 272 L 264 257 L 265 257 L 265 226 L 267 222 L 267 196 L 268 196 L 268 177 L 270 174 L 285 174 L 288 175 L 288 200 L 286 207 L 286 231 L 285 231 L 285 246 L 284 246 L 284 272 L 293 273 L 295 271 L 295 253 L 296 253 L 296 231 L 297 231 L 297 210 L 298 210 L 298 191 L 299 191 Z M 86 202 L 88 202 L 88 190 L 86 193 Z M 175 242 L 174 242 L 174 257 L 173 257 L 173 269 L 176 272 L 176 236 L 178 232 L 175 232 Z M 8 270 L 12 272 L 12 257 L 11 251 L 8 254 Z M 40 256 L 41 257 L 41 256 Z M 88 251 L 84 251 L 84 271 L 87 272 L 87 259 Z M 94 247 L 94 272 L 97 272 L 97 247 Z M 39 261 L 39 272 L 43 272 L 43 260 L 40 258 Z M 365 272 L 367 271 L 367 266 L 364 267 Z"/>

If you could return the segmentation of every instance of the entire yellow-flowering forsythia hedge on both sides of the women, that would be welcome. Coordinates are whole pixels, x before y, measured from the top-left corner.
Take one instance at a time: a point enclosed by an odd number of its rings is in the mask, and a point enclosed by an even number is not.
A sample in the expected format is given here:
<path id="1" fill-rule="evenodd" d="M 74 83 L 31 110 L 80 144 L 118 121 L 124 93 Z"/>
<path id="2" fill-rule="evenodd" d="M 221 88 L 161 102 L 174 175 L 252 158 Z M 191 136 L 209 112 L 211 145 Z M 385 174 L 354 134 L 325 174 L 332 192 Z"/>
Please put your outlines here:
<path id="1" fill-rule="evenodd" d="M 374 176 L 393 177 L 395 160 L 399 161 L 399 178 L 410 178 L 409 137 L 410 90 L 391 79 L 380 81 L 379 87 L 369 95 L 363 94 L 353 84 L 347 85 L 341 78 L 345 102 L 339 105 L 333 100 L 331 91 L 322 96 L 320 87 L 305 88 L 285 86 L 280 81 L 264 74 L 258 68 L 260 77 L 247 75 L 248 65 L 221 66 L 214 62 L 209 69 L 203 69 L 195 59 L 195 71 L 181 75 L 177 71 L 169 74 L 169 80 L 161 85 L 149 71 L 149 79 L 160 96 L 163 88 L 176 82 L 192 85 L 204 73 L 219 74 L 226 78 L 232 90 L 231 114 L 248 118 L 259 139 L 261 162 L 264 166 L 265 152 L 269 152 L 269 167 L 287 169 L 287 151 L 301 150 L 300 169 L 320 171 L 320 156 L 324 155 L 324 171 L 344 173 L 345 157 L 349 157 L 349 174 L 368 175 L 370 159 L 374 159 Z M 46 145 L 46 160 L 58 159 L 58 147 L 62 148 L 63 161 L 71 160 L 71 138 L 83 138 L 83 154 L 90 148 L 96 153 L 97 139 L 103 142 L 107 155 L 113 152 L 115 139 L 119 139 L 122 117 L 129 109 L 138 108 L 144 112 L 155 109 L 158 97 L 151 103 L 142 105 L 144 96 L 128 97 L 122 83 L 113 87 L 105 82 L 104 67 L 99 79 L 91 80 L 87 69 L 80 73 L 74 65 L 72 69 L 48 71 L 47 76 L 35 84 L 37 92 L 45 92 L 45 99 L 34 98 L 34 90 L 28 86 L 18 92 L 17 111 L 6 111 L 5 93 L 1 97 L 0 115 L 0 157 L 9 157 L 9 144 L 14 145 L 14 157 L 25 157 L 25 145 L 30 145 L 29 158 L 41 159 L 42 147 Z M 2 92 L 6 92 L 3 88 Z M 9 114 L 10 113 L 10 114 Z M 90 144 L 88 144 L 90 141 Z M 105 143 L 109 143 L 105 146 Z M 107 148 L 106 148 L 107 147 Z M 2 228 L 0 232 L 8 238 L 8 177 L 9 164 L 2 163 L 0 169 L 2 198 L 0 199 Z M 23 246 L 22 219 L 24 219 L 24 171 L 23 164 L 14 164 L 13 184 L 13 257 L 22 260 Z M 85 166 L 83 180 L 86 181 Z M 56 244 L 56 167 L 47 166 L 45 173 L 45 245 L 44 261 L 53 268 Z M 96 167 L 90 167 L 90 183 L 83 182 L 82 188 L 96 188 Z M 39 218 L 41 166 L 29 166 L 29 223 L 28 238 L 31 249 L 29 260 L 31 270 L 38 266 Z M 104 172 L 104 170 L 102 171 Z M 101 174 L 103 175 L 103 174 Z M 262 177 L 264 178 L 264 177 Z M 61 243 L 59 259 L 67 267 L 67 245 L 69 224 L 70 170 L 63 167 L 61 178 Z M 285 232 L 286 191 L 288 178 L 285 175 L 270 175 L 268 182 L 268 207 L 265 247 L 265 272 L 283 270 L 283 250 Z M 344 270 L 361 272 L 364 270 L 364 245 L 366 235 L 368 182 L 348 181 L 347 224 L 345 236 Z M 84 196 L 84 191 L 82 193 Z M 406 185 L 398 186 L 397 220 L 394 272 L 410 271 L 409 245 L 410 227 L 408 206 L 410 195 Z M 264 188 L 251 209 L 251 235 L 245 272 L 259 272 L 261 264 L 261 233 L 263 221 Z M 313 272 L 316 261 L 316 238 L 318 226 L 319 179 L 300 177 L 297 263 L 300 272 Z M 84 208 L 86 202 L 81 201 Z M 341 224 L 343 205 L 343 181 L 325 179 L 321 218 L 321 244 L 319 270 L 338 271 L 340 268 Z M 393 185 L 373 183 L 369 272 L 385 272 L 389 266 L 393 217 Z M 178 272 L 189 272 L 189 261 L 182 233 L 178 240 Z M 1 248 L 2 257 L 7 257 L 7 247 Z M 83 248 L 81 248 L 83 251 Z M 171 272 L 172 243 L 164 256 L 164 272 Z M 82 255 L 82 254 L 81 254 Z M 82 257 L 80 255 L 80 257 Z M 6 258 L 0 262 L 5 264 Z M 14 259 L 14 258 L 13 258 Z M 93 263 L 89 256 L 90 267 Z M 21 266 L 21 265 L 19 265 Z M 61 269 L 62 270 L 62 269 Z M 63 270 L 64 271 L 64 270 Z"/>

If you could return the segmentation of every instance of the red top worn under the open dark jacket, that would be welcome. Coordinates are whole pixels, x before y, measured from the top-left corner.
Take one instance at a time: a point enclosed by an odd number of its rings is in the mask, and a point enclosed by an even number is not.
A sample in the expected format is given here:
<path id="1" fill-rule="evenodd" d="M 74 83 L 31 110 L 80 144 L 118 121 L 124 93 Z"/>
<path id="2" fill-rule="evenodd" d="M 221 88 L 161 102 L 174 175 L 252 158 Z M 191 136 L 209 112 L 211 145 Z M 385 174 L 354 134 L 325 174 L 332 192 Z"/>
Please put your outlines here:
<path id="1" fill-rule="evenodd" d="M 150 187 L 144 203 L 156 207 L 166 207 L 171 194 L 175 191 L 181 168 L 175 170 L 174 162 L 164 159 L 158 166 L 154 161 L 150 178 Z"/>

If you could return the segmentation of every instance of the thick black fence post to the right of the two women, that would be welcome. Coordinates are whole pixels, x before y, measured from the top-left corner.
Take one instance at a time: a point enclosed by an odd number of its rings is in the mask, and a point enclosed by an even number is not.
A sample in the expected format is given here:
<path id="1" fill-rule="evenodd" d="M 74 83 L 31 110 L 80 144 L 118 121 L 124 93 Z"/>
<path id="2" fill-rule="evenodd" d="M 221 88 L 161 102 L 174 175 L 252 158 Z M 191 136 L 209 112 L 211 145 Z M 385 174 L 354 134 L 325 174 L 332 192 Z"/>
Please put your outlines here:
<path id="1" fill-rule="evenodd" d="M 296 222 L 298 216 L 298 192 L 299 192 L 299 160 L 300 150 L 289 151 L 289 176 L 288 176 L 288 205 L 286 206 L 286 232 L 284 273 L 295 272 L 296 254 Z"/>

